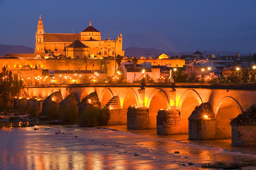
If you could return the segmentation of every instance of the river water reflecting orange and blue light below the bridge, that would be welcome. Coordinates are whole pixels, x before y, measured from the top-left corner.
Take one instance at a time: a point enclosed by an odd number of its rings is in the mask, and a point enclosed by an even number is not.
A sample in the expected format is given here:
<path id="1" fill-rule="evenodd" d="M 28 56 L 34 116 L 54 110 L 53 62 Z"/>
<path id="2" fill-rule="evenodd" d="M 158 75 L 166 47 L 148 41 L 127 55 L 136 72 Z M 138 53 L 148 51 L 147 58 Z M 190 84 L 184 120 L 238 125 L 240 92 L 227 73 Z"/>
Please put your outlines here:
<path id="1" fill-rule="evenodd" d="M 0 169 L 200 169 L 216 160 L 256 159 L 255 148 L 234 148 L 227 139 L 189 141 L 126 126 L 36 127 L 0 129 Z"/>

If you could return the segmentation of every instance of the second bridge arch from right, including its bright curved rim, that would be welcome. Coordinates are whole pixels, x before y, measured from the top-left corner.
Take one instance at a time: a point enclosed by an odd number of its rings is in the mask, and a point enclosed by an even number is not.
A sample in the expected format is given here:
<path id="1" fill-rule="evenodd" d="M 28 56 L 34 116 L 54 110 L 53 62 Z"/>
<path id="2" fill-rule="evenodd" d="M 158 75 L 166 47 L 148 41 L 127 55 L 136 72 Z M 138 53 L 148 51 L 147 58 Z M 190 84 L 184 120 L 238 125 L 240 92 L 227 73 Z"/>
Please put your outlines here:
<path id="1" fill-rule="evenodd" d="M 188 89 L 182 94 L 178 104 L 182 133 L 188 133 L 188 117 L 201 103 L 202 99 L 195 90 Z"/>

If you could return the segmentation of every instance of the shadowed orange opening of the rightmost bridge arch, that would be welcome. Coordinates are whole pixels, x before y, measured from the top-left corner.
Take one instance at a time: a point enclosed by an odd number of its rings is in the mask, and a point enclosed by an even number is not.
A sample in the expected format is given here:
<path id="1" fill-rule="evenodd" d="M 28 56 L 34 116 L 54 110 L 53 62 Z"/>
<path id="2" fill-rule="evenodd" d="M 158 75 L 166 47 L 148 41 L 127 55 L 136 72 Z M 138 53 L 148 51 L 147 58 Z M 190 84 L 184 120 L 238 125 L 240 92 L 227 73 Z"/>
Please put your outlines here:
<path id="1" fill-rule="evenodd" d="M 216 116 L 215 138 L 231 138 L 230 121 L 240 114 L 239 109 L 232 103 L 224 103 L 220 106 Z"/>

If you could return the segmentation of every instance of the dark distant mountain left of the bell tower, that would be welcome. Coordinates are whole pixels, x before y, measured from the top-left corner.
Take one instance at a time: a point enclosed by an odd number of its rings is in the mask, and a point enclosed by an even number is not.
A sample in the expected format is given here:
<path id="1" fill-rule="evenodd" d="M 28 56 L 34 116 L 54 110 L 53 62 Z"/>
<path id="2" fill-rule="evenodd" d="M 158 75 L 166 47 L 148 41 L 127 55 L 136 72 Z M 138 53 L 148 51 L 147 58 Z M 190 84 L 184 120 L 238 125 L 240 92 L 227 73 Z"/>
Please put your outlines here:
<path id="1" fill-rule="evenodd" d="M 4 56 L 4 54 L 31 54 L 31 53 L 35 53 L 34 48 L 26 47 L 23 45 L 0 44 L 0 56 Z"/>

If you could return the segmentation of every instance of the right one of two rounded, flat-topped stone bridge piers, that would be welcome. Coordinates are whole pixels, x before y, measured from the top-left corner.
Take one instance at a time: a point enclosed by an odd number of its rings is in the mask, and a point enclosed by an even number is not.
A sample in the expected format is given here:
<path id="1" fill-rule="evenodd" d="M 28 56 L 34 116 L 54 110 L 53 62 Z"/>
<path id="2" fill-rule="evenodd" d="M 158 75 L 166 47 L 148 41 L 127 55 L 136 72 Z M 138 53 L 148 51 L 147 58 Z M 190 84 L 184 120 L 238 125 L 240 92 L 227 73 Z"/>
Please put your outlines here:
<path id="1" fill-rule="evenodd" d="M 156 116 L 156 134 L 180 134 L 180 112 L 178 110 L 159 110 Z"/>

